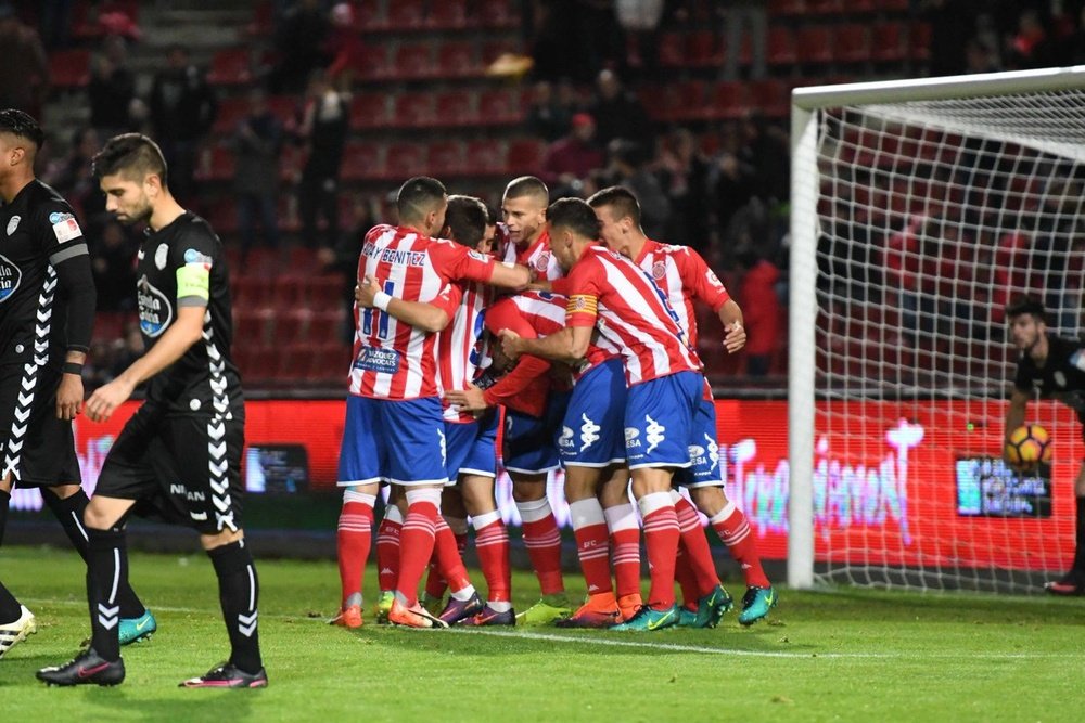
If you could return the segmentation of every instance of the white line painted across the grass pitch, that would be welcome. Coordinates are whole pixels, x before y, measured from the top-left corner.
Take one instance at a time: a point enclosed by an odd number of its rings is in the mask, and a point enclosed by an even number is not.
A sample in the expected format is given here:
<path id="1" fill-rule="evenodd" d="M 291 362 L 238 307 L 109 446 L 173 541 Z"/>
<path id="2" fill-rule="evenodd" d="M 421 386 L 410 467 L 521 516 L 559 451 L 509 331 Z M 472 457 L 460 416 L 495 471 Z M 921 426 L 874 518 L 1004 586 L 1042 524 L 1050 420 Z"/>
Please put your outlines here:
<path id="1" fill-rule="evenodd" d="M 58 607 L 86 607 L 86 603 L 82 601 L 59 601 L 50 598 L 27 598 L 28 603 L 40 604 L 40 605 L 55 605 Z M 199 615 L 220 615 L 219 610 L 208 610 L 204 608 L 191 608 L 191 607 L 165 607 L 162 605 L 154 606 L 154 610 L 158 612 L 177 612 L 177 614 L 199 614 Z M 309 618 L 299 615 L 264 615 L 260 614 L 260 618 L 264 620 L 275 619 L 275 620 L 299 620 L 302 622 L 320 622 L 327 623 L 328 619 L 320 618 Z M 369 628 L 369 625 L 367 625 Z M 396 630 L 395 625 L 392 627 L 381 627 L 384 630 Z M 411 632 L 411 629 L 404 629 Z M 718 629 L 717 629 L 718 630 Z M 700 655 L 724 655 L 724 656 L 736 656 L 736 657 L 750 657 L 750 658 L 828 658 L 833 660 L 840 659 L 866 659 L 866 660 L 901 660 L 901 659 L 956 659 L 960 655 L 956 653 L 931 653 L 930 650 L 916 650 L 914 653 L 898 650 L 894 653 L 824 653 L 821 650 L 810 650 L 809 653 L 797 653 L 788 650 L 740 650 L 735 648 L 715 648 L 702 645 L 682 645 L 678 643 L 656 643 L 651 641 L 630 641 L 630 640 L 614 640 L 611 637 L 582 637 L 577 635 L 559 635 L 554 633 L 532 633 L 526 631 L 518 630 L 483 630 L 480 628 L 474 629 L 463 629 L 463 628 L 450 628 L 448 630 L 434 630 L 425 631 L 434 635 L 448 635 L 448 634 L 460 634 L 460 635 L 489 635 L 492 637 L 506 637 L 512 640 L 525 640 L 525 641 L 545 641 L 548 643 L 566 643 L 566 644 L 579 644 L 579 645 L 597 645 L 600 647 L 626 647 L 626 648 L 641 648 L 646 650 L 661 650 L 664 653 L 697 653 Z M 618 635 L 620 633 L 609 633 L 610 635 Z M 666 635 L 667 633 L 656 633 Z M 1045 659 L 1056 659 L 1056 658 L 1074 658 L 1080 659 L 1081 654 L 1078 653 L 969 653 L 969 658 L 982 658 L 985 660 L 1045 660 Z"/>

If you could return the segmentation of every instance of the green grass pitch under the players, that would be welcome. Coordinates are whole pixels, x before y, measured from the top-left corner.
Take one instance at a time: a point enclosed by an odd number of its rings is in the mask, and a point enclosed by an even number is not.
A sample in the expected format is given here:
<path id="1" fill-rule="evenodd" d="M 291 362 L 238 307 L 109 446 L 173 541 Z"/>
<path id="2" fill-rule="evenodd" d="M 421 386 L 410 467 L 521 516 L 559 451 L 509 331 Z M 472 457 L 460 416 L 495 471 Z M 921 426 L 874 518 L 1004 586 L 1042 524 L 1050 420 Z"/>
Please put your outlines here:
<path id="1" fill-rule="evenodd" d="M 123 685 L 47 688 L 34 671 L 88 634 L 81 563 L 30 547 L 4 548 L 0 563 L 39 622 L 0 660 L 4 721 L 1061 721 L 1083 700 L 1081 598 L 782 590 L 769 622 L 750 629 L 731 612 L 715 630 L 651 634 L 412 631 L 367 609 L 355 632 L 323 624 L 339 593 L 332 563 L 281 560 L 258 560 L 270 686 L 186 690 L 177 683 L 228 651 L 199 552 L 132 555 L 158 633 L 125 648 Z M 366 577 L 375 599 L 372 566 Z M 534 599 L 529 574 L 513 585 L 518 606 Z"/>

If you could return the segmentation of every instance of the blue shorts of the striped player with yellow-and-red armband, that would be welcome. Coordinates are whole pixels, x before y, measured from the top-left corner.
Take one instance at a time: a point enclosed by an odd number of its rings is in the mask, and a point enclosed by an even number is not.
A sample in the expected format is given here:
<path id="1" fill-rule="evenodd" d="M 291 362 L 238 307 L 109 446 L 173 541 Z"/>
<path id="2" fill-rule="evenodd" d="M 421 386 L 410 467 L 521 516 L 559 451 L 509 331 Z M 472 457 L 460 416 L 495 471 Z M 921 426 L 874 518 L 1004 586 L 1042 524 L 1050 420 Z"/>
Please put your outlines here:
<path id="1" fill-rule="evenodd" d="M 704 377 L 679 372 L 634 385 L 625 406 L 625 453 L 629 469 L 689 467 L 693 415 Z"/>

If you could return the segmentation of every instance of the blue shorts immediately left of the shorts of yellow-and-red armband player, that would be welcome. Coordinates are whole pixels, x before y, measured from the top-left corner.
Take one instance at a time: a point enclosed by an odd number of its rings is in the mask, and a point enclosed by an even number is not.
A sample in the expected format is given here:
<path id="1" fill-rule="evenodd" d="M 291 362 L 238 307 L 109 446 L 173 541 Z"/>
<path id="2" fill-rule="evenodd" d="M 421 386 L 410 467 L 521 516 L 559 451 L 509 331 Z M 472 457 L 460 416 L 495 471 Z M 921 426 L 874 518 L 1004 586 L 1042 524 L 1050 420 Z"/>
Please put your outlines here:
<path id="1" fill-rule="evenodd" d="M 605 467 L 625 462 L 626 391 L 621 359 L 605 361 L 577 379 L 558 438 L 564 466 Z"/>

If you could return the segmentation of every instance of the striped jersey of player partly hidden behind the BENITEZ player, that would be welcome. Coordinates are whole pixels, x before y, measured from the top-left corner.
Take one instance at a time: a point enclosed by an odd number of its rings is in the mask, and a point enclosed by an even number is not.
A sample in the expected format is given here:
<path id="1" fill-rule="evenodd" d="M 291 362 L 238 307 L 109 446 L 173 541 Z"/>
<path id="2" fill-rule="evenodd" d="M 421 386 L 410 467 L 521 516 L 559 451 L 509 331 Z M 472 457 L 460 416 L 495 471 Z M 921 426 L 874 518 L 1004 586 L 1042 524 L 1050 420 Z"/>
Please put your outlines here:
<path id="1" fill-rule="evenodd" d="M 448 326 L 437 335 L 437 374 L 442 391 L 467 389 L 474 380 L 482 363 L 483 314 L 494 297 L 493 288 L 485 284 L 454 284 L 451 298 L 458 299 L 456 312 Z M 446 401 L 445 422 L 473 422 L 474 415 L 461 413 Z"/>

